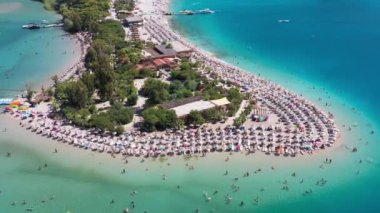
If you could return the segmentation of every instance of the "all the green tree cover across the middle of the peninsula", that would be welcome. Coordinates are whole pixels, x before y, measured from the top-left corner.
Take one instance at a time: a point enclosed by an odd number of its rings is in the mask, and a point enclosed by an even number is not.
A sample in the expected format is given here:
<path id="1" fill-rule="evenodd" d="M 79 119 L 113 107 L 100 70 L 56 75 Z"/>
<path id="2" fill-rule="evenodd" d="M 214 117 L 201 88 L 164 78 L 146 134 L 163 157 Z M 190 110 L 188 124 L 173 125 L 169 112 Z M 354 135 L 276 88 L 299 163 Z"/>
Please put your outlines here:
<path id="1" fill-rule="evenodd" d="M 49 0 L 64 20 L 64 29 L 70 33 L 85 31 L 91 34 L 91 47 L 85 56 L 85 70 L 79 79 L 59 82 L 55 78 L 54 106 L 57 115 L 63 115 L 78 126 L 96 127 L 103 131 L 123 132 L 123 125 L 133 120 L 132 108 L 138 101 L 133 81 L 147 78 L 140 94 L 148 100 L 141 113 L 144 131 L 165 130 L 187 124 L 201 125 L 218 122 L 236 113 L 243 99 L 237 89 L 225 89 L 217 80 L 201 76 L 199 64 L 183 59 L 181 65 L 171 72 L 170 81 L 156 79 L 155 72 L 137 70 L 145 44 L 125 41 L 122 24 L 105 20 L 108 0 Z M 117 0 L 116 10 L 131 11 L 132 0 Z M 217 79 L 217 75 L 213 77 Z M 206 100 L 227 97 L 231 104 L 227 112 L 209 109 L 192 111 L 186 120 L 178 119 L 173 110 L 163 109 L 159 104 L 192 96 Z M 107 107 L 97 107 L 98 103 Z M 109 104 L 108 104 L 109 103 Z"/>

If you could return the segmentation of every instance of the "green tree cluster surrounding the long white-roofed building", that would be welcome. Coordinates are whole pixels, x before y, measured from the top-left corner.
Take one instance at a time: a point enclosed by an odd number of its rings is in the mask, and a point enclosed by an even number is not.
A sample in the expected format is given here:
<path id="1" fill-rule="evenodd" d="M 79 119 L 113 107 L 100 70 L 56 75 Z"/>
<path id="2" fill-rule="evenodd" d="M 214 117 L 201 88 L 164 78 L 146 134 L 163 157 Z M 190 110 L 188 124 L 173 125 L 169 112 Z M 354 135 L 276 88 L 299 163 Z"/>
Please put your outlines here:
<path id="1" fill-rule="evenodd" d="M 239 90 L 236 88 L 225 89 L 219 85 L 217 80 L 212 81 L 201 76 L 197 72 L 197 69 L 198 64 L 184 60 L 179 69 L 171 72 L 170 83 L 165 83 L 153 78 L 147 79 L 141 91 L 142 95 L 148 97 L 146 106 L 155 106 L 163 102 L 180 100 L 194 95 L 203 96 L 205 100 L 215 100 L 227 97 L 231 102 L 227 106 L 227 111 L 216 108 L 204 110 L 202 112 L 192 111 L 186 117 L 185 123 L 188 125 L 199 126 L 207 122 L 216 123 L 224 120 L 227 116 L 233 116 L 239 109 L 243 100 L 243 96 Z M 154 111 L 146 110 L 144 112 L 144 119 L 147 118 L 158 122 L 162 117 L 155 115 L 157 110 L 159 109 L 155 109 Z M 152 125 L 152 123 L 154 122 L 145 122 L 144 130 L 154 131 L 156 129 L 162 129 L 153 128 L 155 125 Z M 171 125 L 171 128 L 175 126 L 174 123 L 175 122 Z M 162 127 L 162 125 L 160 126 Z"/>

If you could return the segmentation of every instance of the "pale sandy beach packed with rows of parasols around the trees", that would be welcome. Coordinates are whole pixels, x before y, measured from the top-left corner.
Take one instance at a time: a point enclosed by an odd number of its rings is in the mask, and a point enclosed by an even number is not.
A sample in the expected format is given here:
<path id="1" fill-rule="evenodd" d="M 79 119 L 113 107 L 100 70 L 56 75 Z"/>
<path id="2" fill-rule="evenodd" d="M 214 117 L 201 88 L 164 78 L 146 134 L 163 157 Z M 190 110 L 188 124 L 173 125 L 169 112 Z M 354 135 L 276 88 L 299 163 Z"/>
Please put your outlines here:
<path id="1" fill-rule="evenodd" d="M 245 87 L 250 98 L 258 100 L 258 107 L 262 105 L 266 107 L 265 111 L 270 110 L 272 118 L 266 121 L 264 126 L 248 121 L 241 129 L 231 127 L 231 122 L 226 122 L 221 125 L 203 126 L 196 130 L 185 129 L 149 134 L 129 131 L 120 137 L 114 137 L 111 134 L 100 136 L 96 129 L 87 131 L 67 125 L 64 121 L 48 118 L 49 107 L 44 109 L 37 107 L 32 112 L 33 116 L 30 116 L 32 118 L 20 121 L 20 124 L 22 123 L 22 126 L 37 134 L 73 146 L 137 157 L 193 155 L 195 153 L 203 155 L 209 152 L 255 153 L 256 151 L 295 157 L 304 155 L 304 153 L 312 154 L 315 152 L 314 150 L 323 151 L 334 145 L 339 138 L 339 129 L 334 124 L 333 116 L 330 113 L 323 112 L 313 103 L 273 82 L 227 64 L 188 43 L 176 32 L 173 32 L 168 25 L 166 16 L 163 15 L 167 10 L 168 3 L 143 1 L 136 7 L 136 10 L 145 19 L 141 30 L 146 31 L 143 33 L 149 37 L 146 39 L 154 39 L 156 43 L 168 40 L 179 41 L 182 45 L 194 50 L 192 60 L 212 67 L 222 80 Z M 159 8 L 159 10 L 152 11 L 155 8 Z M 113 14 L 111 18 L 115 19 L 112 10 L 111 8 L 111 14 Z M 79 42 L 77 41 L 76 44 L 79 43 L 81 49 L 81 61 L 83 61 L 84 52 L 87 49 L 85 41 L 89 41 L 85 37 L 86 35 L 77 35 Z M 60 79 L 70 78 L 75 74 L 77 66 L 81 67 L 83 64 L 77 62 Z M 212 78 L 206 70 L 201 69 L 200 72 L 206 77 Z M 24 117 L 21 111 L 11 112 L 11 114 L 17 119 Z"/>

